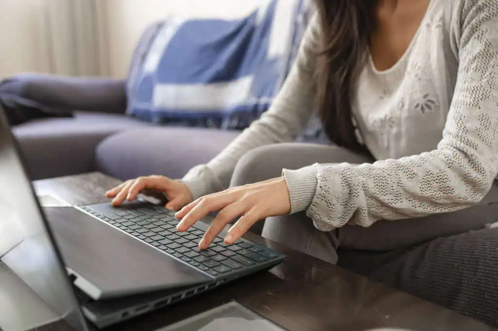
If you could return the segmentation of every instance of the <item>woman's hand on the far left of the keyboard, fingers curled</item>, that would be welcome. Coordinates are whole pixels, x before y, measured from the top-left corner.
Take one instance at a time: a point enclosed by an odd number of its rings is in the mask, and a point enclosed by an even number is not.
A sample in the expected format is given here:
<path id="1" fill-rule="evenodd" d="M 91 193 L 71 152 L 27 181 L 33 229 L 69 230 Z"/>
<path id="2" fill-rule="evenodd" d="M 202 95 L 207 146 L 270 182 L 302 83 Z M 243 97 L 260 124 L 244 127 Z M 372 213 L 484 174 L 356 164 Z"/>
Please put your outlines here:
<path id="1" fill-rule="evenodd" d="M 130 179 L 106 192 L 113 198 L 112 204 L 117 207 L 125 200 L 134 200 L 144 190 L 157 191 L 168 199 L 166 208 L 178 211 L 193 201 L 190 189 L 181 180 L 169 179 L 165 176 L 152 175 Z"/>

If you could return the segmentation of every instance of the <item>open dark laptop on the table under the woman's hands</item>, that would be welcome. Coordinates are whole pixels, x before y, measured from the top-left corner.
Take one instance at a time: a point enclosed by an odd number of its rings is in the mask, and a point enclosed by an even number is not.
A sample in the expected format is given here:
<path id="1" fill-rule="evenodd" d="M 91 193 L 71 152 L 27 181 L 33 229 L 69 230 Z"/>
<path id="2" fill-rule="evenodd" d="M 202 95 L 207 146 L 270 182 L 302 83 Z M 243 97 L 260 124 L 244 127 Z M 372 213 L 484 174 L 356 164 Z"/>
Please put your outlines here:
<path id="1" fill-rule="evenodd" d="M 101 329 L 285 258 L 245 239 L 226 245 L 226 232 L 199 250 L 211 218 L 179 233 L 173 212 L 146 201 L 42 209 L 2 109 L 0 182 L 2 262 L 72 325 L 80 309 Z"/>

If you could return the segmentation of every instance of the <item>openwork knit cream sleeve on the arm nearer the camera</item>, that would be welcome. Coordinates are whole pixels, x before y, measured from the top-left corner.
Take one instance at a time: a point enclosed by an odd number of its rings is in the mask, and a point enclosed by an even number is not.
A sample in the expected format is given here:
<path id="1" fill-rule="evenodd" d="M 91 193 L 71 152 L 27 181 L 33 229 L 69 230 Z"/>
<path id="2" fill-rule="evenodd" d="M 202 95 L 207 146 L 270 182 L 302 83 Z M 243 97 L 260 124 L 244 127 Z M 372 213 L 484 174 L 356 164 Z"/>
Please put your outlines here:
<path id="1" fill-rule="evenodd" d="M 452 33 L 459 69 L 437 149 L 373 164 L 284 170 L 292 212 L 307 209 L 318 229 L 330 231 L 456 211 L 484 198 L 498 172 L 498 2 L 458 2 Z"/>

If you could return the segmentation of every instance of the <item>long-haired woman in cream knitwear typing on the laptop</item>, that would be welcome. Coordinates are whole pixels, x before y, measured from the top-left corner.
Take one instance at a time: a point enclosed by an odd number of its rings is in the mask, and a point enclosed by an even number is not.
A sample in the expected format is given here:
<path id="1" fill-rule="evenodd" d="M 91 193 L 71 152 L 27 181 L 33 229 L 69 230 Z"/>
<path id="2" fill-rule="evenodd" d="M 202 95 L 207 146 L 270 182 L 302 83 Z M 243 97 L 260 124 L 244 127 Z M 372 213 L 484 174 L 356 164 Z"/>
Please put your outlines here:
<path id="1" fill-rule="evenodd" d="M 182 180 L 137 178 L 108 196 L 119 205 L 159 190 L 178 210 L 178 231 L 219 211 L 201 248 L 237 219 L 228 244 L 267 219 L 264 237 L 333 263 L 338 247 L 391 250 L 457 234 L 467 237 L 448 243 L 480 247 L 469 231 L 497 221 L 498 2 L 317 3 L 268 112 Z M 332 146 L 288 143 L 315 108 Z M 474 248 L 458 254 L 496 260 Z M 498 305 L 496 282 L 491 296 L 457 282 Z M 469 310 L 498 324 L 479 309 Z"/>

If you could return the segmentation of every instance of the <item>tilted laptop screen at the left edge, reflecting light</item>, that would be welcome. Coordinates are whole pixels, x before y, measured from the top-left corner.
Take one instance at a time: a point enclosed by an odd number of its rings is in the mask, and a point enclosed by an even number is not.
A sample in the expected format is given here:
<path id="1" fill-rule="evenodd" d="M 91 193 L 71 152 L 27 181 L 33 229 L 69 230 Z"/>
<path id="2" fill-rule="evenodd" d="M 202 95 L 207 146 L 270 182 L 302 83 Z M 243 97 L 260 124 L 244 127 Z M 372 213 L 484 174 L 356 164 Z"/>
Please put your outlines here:
<path id="1" fill-rule="evenodd" d="M 86 324 L 0 107 L 0 258 L 75 330 Z"/>

